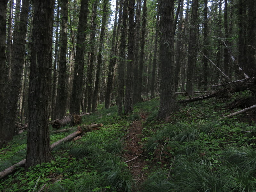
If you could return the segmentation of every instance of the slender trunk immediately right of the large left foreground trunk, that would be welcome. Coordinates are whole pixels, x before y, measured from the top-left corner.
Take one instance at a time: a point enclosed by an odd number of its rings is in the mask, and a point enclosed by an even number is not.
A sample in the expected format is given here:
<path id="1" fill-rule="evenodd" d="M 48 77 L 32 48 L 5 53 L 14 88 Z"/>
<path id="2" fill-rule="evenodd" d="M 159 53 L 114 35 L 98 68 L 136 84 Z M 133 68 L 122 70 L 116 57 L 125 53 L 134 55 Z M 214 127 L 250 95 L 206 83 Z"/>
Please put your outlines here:
<path id="1" fill-rule="evenodd" d="M 51 102 L 51 119 L 56 119 L 56 89 L 57 89 L 57 69 L 58 69 L 58 50 L 59 50 L 59 15 L 60 15 L 60 4 L 57 2 L 57 16 L 56 16 L 56 32 L 55 32 L 55 49 L 54 49 L 54 63 L 53 63 L 53 77 L 52 77 L 52 102 Z"/>

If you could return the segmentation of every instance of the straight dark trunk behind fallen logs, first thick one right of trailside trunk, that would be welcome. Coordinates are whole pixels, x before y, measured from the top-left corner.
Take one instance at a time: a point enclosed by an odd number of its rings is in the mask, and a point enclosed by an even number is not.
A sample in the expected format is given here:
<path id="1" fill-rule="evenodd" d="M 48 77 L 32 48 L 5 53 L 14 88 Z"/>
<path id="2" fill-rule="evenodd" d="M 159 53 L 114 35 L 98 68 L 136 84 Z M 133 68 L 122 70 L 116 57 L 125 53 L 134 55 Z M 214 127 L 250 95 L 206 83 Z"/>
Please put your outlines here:
<path id="1" fill-rule="evenodd" d="M 197 58 L 197 36 L 198 36 L 198 0 L 192 1 L 191 10 L 191 28 L 189 34 L 189 45 L 188 45 L 188 70 L 187 70 L 187 85 L 186 91 L 189 95 L 193 95 L 193 76 L 194 68 L 196 67 Z"/>

